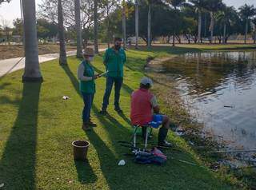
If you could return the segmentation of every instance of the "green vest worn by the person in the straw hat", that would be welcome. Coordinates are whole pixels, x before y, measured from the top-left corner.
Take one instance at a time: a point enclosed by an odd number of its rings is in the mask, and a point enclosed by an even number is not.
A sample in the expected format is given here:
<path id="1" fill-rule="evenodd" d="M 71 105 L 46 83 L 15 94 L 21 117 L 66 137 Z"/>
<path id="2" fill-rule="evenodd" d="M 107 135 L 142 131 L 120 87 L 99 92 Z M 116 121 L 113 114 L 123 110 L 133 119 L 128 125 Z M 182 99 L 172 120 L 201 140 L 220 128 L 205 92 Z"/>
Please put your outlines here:
<path id="1" fill-rule="evenodd" d="M 82 61 L 82 65 L 85 67 L 83 76 L 94 77 L 94 68 L 87 61 Z M 80 81 L 80 90 L 82 93 L 95 93 L 95 81 Z"/>

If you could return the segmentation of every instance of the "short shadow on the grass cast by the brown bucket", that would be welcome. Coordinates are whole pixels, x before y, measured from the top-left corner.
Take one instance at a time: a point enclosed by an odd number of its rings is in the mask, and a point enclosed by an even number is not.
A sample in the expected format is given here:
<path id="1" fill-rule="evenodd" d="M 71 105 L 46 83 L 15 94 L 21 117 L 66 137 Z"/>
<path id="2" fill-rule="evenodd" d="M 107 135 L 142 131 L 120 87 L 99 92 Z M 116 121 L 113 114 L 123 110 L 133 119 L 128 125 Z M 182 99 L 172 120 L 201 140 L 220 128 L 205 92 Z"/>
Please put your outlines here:
<path id="1" fill-rule="evenodd" d="M 78 172 L 78 180 L 81 184 L 92 184 L 97 181 L 97 176 L 94 174 L 93 169 L 90 167 L 88 160 L 74 160 L 74 164 Z"/>

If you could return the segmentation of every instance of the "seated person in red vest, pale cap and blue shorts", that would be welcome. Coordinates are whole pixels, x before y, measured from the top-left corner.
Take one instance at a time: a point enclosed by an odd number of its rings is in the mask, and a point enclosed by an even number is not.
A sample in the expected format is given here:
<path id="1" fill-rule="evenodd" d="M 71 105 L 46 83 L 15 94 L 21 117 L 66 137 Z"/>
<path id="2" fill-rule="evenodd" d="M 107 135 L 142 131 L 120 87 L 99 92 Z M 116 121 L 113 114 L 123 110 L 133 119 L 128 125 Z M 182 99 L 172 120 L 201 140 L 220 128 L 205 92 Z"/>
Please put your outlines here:
<path id="1" fill-rule="evenodd" d="M 150 122 L 161 123 L 162 127 L 158 133 L 158 145 L 170 147 L 171 144 L 166 141 L 168 129 L 170 128 L 170 119 L 159 114 L 160 109 L 156 97 L 150 93 L 153 81 L 148 77 L 143 77 L 140 88 L 131 95 L 130 119 L 133 125 L 145 126 Z M 159 125 L 158 125 L 159 127 Z"/>

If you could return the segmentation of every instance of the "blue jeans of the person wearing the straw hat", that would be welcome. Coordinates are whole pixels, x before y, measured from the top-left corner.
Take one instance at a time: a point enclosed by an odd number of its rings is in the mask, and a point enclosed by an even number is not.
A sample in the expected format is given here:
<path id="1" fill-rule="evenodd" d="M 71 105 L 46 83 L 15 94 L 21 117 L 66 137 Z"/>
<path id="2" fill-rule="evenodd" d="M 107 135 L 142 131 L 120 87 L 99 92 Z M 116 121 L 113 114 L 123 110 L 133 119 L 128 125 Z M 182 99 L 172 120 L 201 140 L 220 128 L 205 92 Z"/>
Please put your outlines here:
<path id="1" fill-rule="evenodd" d="M 83 123 L 90 121 L 90 109 L 94 101 L 94 93 L 82 93 L 84 108 L 82 110 Z"/>

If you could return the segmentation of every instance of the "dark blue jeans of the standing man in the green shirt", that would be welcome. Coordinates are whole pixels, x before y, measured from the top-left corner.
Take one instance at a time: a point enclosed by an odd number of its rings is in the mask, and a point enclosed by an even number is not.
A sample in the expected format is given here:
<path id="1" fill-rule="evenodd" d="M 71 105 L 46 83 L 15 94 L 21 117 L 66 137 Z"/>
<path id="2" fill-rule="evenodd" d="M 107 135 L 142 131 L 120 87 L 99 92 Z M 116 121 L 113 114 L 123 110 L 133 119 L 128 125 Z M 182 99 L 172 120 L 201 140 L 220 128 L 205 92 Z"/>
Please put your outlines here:
<path id="1" fill-rule="evenodd" d="M 106 110 L 110 104 L 110 93 L 114 85 L 114 107 L 119 108 L 120 90 L 122 88 L 122 77 L 106 77 L 106 90 L 103 97 L 102 110 Z"/>

